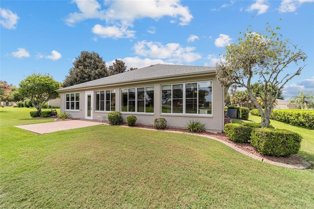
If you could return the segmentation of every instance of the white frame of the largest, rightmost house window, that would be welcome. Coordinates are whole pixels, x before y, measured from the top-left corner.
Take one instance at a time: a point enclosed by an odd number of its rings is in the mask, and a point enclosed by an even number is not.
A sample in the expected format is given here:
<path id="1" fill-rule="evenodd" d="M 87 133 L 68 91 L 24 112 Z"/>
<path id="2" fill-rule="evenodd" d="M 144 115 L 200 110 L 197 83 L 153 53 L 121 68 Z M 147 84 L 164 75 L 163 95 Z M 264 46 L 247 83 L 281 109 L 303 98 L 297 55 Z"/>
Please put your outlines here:
<path id="1" fill-rule="evenodd" d="M 199 98 L 199 84 L 202 83 L 202 82 L 210 82 L 210 85 L 211 85 L 211 95 L 210 95 L 210 100 L 209 103 L 211 104 L 211 106 L 209 106 L 209 109 L 211 110 L 211 113 L 210 114 L 205 114 L 205 113 L 199 113 L 200 111 L 200 108 L 199 108 L 199 101 L 200 101 L 200 98 Z M 186 97 L 186 84 L 193 84 L 193 83 L 196 83 L 197 85 L 197 98 L 196 98 L 196 102 L 197 102 L 197 110 L 196 110 L 196 113 L 186 113 L 186 101 L 188 99 L 194 99 L 194 98 L 187 98 Z M 182 108 L 183 108 L 183 112 L 180 113 L 180 112 L 174 112 L 173 111 L 173 106 L 174 106 L 174 103 L 173 101 L 174 100 L 178 100 L 177 98 L 173 98 L 173 86 L 174 85 L 180 85 L 182 84 L 183 85 L 183 98 L 180 98 L 183 100 L 183 104 L 182 104 Z M 200 80 L 200 81 L 189 81 L 189 82 L 182 82 L 182 83 L 169 83 L 169 84 L 161 84 L 160 85 L 160 114 L 161 115 L 189 115 L 189 116 L 209 116 L 211 117 L 213 115 L 213 94 L 212 94 L 212 84 L 213 84 L 213 81 L 212 80 Z M 170 98 L 171 98 L 171 101 L 170 101 L 170 104 L 168 104 L 168 106 L 170 105 L 171 107 L 171 111 L 170 112 L 162 112 L 163 111 L 163 98 L 162 98 L 162 93 L 163 93 L 163 89 L 162 87 L 163 86 L 170 86 L 170 89 L 168 90 L 171 90 L 171 93 L 170 93 Z M 169 88 L 169 87 L 168 87 Z M 165 88 L 164 91 L 166 91 L 167 89 Z M 169 94 L 169 93 L 167 93 Z M 169 98 L 169 95 L 167 95 L 167 98 Z M 166 98 L 166 99 L 167 99 Z M 169 108 L 167 108 L 167 110 L 169 111 Z"/>

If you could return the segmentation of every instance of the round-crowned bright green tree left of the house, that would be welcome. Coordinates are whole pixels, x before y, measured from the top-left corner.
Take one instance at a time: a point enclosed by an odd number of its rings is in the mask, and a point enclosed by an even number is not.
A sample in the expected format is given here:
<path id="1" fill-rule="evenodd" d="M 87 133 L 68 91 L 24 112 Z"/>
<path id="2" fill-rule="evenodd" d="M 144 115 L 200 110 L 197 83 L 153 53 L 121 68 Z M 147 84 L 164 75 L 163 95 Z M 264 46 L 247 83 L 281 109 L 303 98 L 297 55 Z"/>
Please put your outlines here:
<path id="1" fill-rule="evenodd" d="M 20 94 L 31 101 L 41 116 L 41 109 L 49 100 L 59 95 L 55 90 L 61 88 L 60 83 L 48 75 L 32 74 L 20 82 Z"/>

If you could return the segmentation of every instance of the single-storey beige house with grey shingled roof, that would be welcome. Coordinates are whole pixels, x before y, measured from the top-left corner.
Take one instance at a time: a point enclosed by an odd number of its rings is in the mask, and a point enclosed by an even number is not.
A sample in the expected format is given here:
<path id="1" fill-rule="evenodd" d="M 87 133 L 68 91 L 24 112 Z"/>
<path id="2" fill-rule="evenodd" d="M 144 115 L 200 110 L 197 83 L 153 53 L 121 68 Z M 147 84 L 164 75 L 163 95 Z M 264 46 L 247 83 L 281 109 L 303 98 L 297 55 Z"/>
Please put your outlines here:
<path id="1" fill-rule="evenodd" d="M 73 118 L 105 120 L 120 111 L 124 122 L 165 118 L 167 127 L 185 128 L 198 119 L 207 131 L 223 131 L 224 89 L 212 67 L 157 64 L 58 89 L 60 110 Z"/>

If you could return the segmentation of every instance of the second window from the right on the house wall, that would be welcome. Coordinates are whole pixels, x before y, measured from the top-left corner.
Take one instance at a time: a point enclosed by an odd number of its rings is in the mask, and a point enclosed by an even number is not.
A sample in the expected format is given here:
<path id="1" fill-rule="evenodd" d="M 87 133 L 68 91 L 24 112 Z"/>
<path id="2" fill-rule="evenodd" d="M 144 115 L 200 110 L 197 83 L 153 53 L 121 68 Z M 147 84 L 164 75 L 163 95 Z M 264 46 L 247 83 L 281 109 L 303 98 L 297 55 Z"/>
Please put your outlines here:
<path id="1" fill-rule="evenodd" d="M 154 112 L 154 87 L 121 89 L 122 112 Z"/>

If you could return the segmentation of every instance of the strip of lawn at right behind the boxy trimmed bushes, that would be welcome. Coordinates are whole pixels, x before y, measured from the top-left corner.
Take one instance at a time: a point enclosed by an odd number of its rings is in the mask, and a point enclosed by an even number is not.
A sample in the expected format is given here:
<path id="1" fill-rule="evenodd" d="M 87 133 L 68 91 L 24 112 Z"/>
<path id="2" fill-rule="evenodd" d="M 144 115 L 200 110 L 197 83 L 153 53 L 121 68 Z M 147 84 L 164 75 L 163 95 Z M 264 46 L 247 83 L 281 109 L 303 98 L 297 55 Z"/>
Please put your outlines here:
<path id="1" fill-rule="evenodd" d="M 239 123 L 239 124 L 247 123 L 247 122 L 261 123 L 261 117 L 250 115 L 248 121 L 233 120 L 233 122 Z M 275 120 L 270 120 L 270 124 L 276 129 L 287 129 L 287 130 L 301 134 L 303 136 L 303 139 L 301 142 L 301 148 L 297 155 L 307 160 L 310 160 L 312 161 L 312 163 L 314 163 L 314 130 L 313 129 L 291 126 L 289 124 L 275 121 Z"/>

